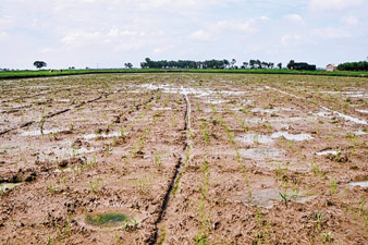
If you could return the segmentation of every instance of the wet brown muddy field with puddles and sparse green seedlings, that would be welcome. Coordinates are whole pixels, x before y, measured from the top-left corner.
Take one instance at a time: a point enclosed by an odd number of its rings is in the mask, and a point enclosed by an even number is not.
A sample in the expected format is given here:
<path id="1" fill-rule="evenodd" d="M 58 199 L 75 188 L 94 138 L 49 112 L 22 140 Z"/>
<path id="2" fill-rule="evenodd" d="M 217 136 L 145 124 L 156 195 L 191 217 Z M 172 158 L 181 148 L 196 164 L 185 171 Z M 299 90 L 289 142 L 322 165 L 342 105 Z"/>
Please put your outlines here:
<path id="1" fill-rule="evenodd" d="M 367 78 L 0 85 L 0 244 L 368 244 Z"/>

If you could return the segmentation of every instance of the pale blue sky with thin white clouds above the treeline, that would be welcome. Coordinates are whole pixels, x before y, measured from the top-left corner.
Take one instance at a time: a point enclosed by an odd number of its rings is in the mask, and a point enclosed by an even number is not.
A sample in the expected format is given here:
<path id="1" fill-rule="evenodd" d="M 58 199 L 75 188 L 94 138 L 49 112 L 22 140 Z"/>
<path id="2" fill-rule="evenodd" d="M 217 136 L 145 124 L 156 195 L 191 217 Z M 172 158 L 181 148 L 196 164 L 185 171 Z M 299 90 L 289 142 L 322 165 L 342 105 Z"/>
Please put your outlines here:
<path id="1" fill-rule="evenodd" d="M 0 0 L 0 69 L 368 57 L 368 0 Z"/>

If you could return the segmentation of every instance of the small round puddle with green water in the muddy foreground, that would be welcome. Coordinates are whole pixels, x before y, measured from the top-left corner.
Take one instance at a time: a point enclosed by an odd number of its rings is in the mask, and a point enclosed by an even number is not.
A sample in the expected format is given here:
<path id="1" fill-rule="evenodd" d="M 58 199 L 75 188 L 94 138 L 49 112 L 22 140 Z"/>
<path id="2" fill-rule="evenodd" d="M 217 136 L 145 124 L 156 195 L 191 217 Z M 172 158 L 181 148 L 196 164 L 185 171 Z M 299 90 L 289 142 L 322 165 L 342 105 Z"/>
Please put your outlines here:
<path id="1" fill-rule="evenodd" d="M 85 218 L 87 224 L 95 226 L 121 226 L 128 220 L 124 213 L 95 213 Z"/>

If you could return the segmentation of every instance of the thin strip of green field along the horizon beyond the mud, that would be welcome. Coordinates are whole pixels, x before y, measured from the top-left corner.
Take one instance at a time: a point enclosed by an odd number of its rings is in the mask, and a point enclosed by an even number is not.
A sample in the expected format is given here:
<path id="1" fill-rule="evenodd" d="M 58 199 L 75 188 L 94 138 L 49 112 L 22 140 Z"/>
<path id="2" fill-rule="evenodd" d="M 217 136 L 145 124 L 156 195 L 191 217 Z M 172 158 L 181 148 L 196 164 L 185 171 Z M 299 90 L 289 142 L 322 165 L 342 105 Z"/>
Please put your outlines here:
<path id="1" fill-rule="evenodd" d="M 27 78 L 27 77 L 41 77 L 41 76 L 63 76 L 63 75 L 81 75 L 81 74 L 98 74 L 98 73 L 237 73 L 237 74 L 292 74 L 292 75 L 323 75 L 323 76 L 355 76 L 355 77 L 368 77 L 368 72 L 327 72 L 327 71 L 291 71 L 291 70 L 163 70 L 163 69 L 109 69 L 109 70 L 64 70 L 60 72 L 54 70 L 50 72 L 48 70 L 41 71 L 9 71 L 0 72 L 0 79 L 9 78 Z"/>

